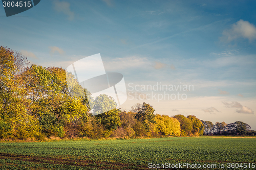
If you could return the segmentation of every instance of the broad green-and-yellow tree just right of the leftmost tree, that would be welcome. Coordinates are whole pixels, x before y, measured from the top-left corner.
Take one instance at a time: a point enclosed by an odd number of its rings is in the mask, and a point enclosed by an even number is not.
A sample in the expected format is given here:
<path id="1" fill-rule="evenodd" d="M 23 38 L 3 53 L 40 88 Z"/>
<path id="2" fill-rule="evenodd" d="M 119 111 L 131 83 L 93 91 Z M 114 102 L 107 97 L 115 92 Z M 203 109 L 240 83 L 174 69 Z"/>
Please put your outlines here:
<path id="1" fill-rule="evenodd" d="M 38 118 L 46 136 L 65 135 L 65 126 L 71 124 L 76 135 L 78 124 L 88 120 L 88 108 L 82 96 L 73 96 L 68 90 L 65 69 L 31 65 L 23 79 L 29 101 L 28 111 Z M 69 130 L 70 132 L 70 130 Z"/>

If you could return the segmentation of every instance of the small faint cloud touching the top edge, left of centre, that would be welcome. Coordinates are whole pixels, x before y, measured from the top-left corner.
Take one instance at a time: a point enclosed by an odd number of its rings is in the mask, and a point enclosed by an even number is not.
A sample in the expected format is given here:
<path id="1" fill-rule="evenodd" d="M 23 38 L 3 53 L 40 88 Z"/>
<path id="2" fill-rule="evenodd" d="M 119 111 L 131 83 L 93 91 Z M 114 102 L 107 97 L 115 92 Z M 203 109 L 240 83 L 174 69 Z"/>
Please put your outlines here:
<path id="1" fill-rule="evenodd" d="M 60 2 L 58 0 L 54 0 L 53 1 L 53 5 L 54 5 L 54 9 L 57 11 L 57 12 L 60 12 L 60 13 L 63 13 L 65 15 L 68 16 L 68 19 L 69 20 L 73 20 L 74 19 L 74 12 L 70 10 L 70 3 L 68 2 Z"/>

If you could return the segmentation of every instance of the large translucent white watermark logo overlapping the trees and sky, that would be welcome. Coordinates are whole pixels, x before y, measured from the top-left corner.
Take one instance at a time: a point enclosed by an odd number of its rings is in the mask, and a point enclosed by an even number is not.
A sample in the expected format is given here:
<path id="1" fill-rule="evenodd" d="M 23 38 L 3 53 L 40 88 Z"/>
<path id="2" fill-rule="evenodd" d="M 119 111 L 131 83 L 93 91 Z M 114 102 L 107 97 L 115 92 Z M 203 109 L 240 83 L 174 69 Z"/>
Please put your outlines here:
<path id="1" fill-rule="evenodd" d="M 106 73 L 100 54 L 80 59 L 66 70 L 69 91 L 72 95 L 86 97 L 93 115 L 110 111 L 127 99 L 123 75 L 118 72 Z M 81 87 L 87 91 L 81 90 Z M 90 100 L 91 96 L 98 100 Z M 96 105 L 101 109 L 95 109 Z"/>

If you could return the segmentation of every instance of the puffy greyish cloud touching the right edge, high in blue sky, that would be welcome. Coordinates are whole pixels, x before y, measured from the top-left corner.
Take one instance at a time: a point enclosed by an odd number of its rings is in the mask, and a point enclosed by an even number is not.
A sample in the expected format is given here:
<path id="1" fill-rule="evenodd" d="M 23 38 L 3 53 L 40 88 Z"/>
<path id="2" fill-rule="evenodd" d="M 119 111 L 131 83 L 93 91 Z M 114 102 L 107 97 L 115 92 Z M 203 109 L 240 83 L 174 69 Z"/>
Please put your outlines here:
<path id="1" fill-rule="evenodd" d="M 231 29 L 224 30 L 221 40 L 223 41 L 233 41 L 239 38 L 248 39 L 250 42 L 256 39 L 256 27 L 248 22 L 240 19 L 231 26 Z"/>

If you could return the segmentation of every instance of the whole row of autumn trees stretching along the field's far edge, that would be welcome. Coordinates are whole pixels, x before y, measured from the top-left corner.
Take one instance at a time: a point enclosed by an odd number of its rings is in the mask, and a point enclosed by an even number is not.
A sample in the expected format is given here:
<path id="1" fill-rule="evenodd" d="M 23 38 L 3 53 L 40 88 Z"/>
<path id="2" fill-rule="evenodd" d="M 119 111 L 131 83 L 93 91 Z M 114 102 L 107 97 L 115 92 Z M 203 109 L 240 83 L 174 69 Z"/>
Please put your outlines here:
<path id="1" fill-rule="evenodd" d="M 193 115 L 160 115 L 146 103 L 136 104 L 130 111 L 115 108 L 93 116 L 92 111 L 102 112 L 117 104 L 106 94 L 93 99 L 63 68 L 29 65 L 22 54 L 3 46 L 0 57 L 1 139 L 244 135 L 250 129 L 242 122 L 213 125 Z"/>

